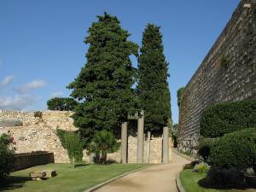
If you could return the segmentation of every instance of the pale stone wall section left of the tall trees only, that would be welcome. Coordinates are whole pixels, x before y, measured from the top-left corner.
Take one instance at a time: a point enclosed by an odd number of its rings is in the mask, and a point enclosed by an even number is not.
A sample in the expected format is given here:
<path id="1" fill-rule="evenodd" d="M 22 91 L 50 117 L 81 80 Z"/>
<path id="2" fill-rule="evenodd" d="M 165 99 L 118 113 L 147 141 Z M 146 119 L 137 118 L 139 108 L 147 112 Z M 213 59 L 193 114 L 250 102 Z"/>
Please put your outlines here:
<path id="1" fill-rule="evenodd" d="M 27 153 L 32 151 L 49 151 L 55 156 L 55 163 L 68 162 L 67 150 L 61 146 L 56 129 L 75 131 L 73 119 L 69 112 L 47 111 L 38 112 L 16 112 L 0 111 L 0 120 L 18 119 L 22 126 L 2 127 L 0 134 L 10 131 L 15 138 L 16 153 Z"/>

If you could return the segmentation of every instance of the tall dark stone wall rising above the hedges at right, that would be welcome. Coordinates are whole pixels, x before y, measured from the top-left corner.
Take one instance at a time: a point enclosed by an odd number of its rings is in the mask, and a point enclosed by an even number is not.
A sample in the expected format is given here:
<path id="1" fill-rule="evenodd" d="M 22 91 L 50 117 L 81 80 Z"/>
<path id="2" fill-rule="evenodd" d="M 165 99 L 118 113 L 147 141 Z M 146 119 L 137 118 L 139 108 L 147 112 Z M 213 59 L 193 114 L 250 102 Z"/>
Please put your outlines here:
<path id="1" fill-rule="evenodd" d="M 220 5 L 221 6 L 221 5 Z M 213 44 L 181 102 L 178 148 L 191 150 L 199 137 L 201 113 L 207 106 L 256 99 L 256 1 L 242 0 Z"/>

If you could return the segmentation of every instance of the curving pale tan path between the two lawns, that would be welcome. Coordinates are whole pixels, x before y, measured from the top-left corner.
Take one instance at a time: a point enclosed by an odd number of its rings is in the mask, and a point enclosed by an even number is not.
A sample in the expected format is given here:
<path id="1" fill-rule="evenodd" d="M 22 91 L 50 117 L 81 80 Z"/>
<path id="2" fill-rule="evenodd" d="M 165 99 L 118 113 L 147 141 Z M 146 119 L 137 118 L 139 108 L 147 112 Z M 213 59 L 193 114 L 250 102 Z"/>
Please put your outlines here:
<path id="1" fill-rule="evenodd" d="M 175 175 L 188 162 L 172 153 L 172 163 L 133 172 L 108 183 L 96 192 L 177 192 Z"/>

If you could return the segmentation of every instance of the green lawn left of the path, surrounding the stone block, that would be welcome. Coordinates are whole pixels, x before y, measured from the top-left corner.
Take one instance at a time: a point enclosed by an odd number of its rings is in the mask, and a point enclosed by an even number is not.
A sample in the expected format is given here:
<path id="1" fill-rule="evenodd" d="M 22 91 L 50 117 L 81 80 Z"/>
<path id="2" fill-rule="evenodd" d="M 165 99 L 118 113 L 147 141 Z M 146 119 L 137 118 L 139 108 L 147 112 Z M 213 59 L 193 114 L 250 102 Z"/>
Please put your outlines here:
<path id="1" fill-rule="evenodd" d="M 74 170 L 69 164 L 48 164 L 13 172 L 10 174 L 4 187 L 0 191 L 15 192 L 81 192 L 98 183 L 107 181 L 146 165 L 139 164 L 111 164 L 111 165 L 85 165 L 81 164 Z M 44 169 L 55 169 L 56 177 L 42 181 L 31 181 L 29 172 Z"/>

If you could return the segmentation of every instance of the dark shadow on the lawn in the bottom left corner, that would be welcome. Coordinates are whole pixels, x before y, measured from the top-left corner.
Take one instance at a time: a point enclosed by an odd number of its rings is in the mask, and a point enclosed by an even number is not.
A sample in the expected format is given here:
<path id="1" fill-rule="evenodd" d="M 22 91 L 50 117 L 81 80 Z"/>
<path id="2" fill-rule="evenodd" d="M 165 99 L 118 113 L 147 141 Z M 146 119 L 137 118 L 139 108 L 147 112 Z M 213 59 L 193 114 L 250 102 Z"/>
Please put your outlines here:
<path id="1" fill-rule="evenodd" d="M 31 181 L 30 177 L 9 176 L 0 180 L 0 191 L 21 188 L 24 183 Z"/>

